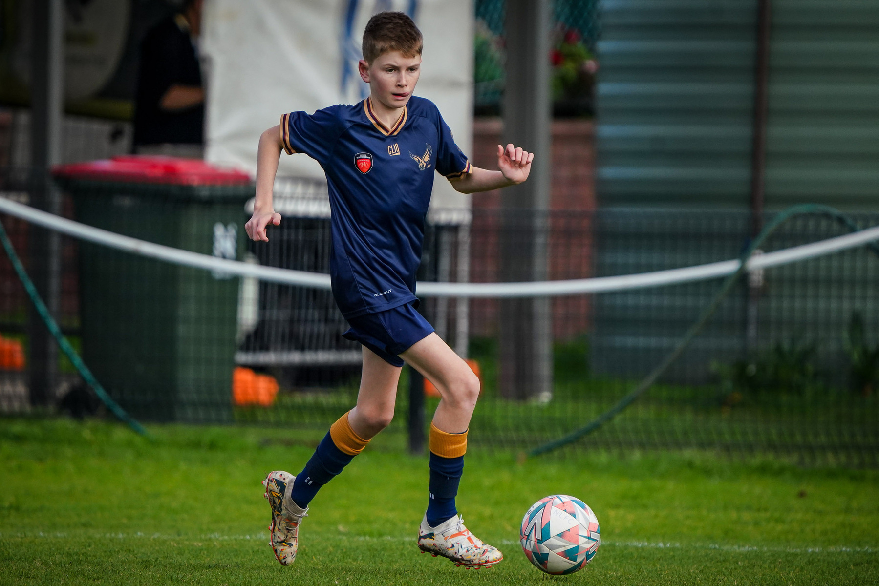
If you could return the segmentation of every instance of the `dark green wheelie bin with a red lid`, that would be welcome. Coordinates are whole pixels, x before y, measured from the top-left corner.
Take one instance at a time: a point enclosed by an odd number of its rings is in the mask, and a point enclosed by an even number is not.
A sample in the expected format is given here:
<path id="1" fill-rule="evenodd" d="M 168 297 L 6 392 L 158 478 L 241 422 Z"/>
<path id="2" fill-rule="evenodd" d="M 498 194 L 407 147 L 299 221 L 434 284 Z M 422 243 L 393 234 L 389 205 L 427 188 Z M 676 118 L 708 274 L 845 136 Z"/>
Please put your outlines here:
<path id="1" fill-rule="evenodd" d="M 89 226 L 224 258 L 243 252 L 251 178 L 202 161 L 120 156 L 55 168 Z M 133 416 L 232 419 L 238 280 L 79 242 L 83 358 Z"/>

